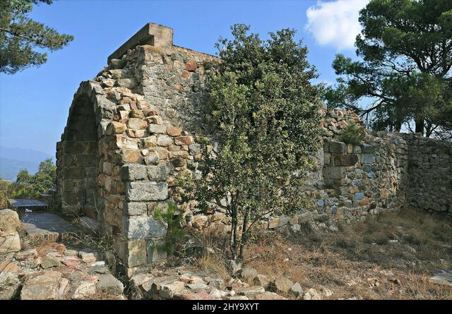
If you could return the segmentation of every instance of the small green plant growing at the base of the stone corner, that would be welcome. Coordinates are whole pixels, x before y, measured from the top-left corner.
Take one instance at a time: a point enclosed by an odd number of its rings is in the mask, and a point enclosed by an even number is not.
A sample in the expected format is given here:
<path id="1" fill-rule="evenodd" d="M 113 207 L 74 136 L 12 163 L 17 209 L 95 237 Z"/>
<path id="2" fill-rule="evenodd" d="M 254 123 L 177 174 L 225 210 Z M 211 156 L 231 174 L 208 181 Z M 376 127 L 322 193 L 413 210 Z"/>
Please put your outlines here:
<path id="1" fill-rule="evenodd" d="M 186 233 L 182 229 L 182 215 L 177 210 L 177 206 L 170 203 L 164 210 L 157 208 L 153 213 L 153 217 L 167 224 L 167 236 L 162 248 L 165 249 L 168 255 L 172 255 L 177 241 L 186 236 Z M 160 248 L 158 244 L 155 244 L 155 246 L 156 248 Z"/>

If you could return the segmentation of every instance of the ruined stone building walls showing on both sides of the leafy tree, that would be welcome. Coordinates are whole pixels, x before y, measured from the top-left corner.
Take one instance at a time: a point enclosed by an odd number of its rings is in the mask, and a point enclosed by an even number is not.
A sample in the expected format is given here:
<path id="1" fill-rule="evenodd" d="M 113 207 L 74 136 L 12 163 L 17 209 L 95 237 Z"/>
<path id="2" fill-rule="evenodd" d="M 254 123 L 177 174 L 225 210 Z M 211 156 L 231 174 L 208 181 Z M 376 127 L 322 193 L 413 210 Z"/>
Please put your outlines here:
<path id="1" fill-rule="evenodd" d="M 201 129 L 206 76 L 215 61 L 172 41 L 137 46 L 109 60 L 74 95 L 57 143 L 58 207 L 67 215 L 97 219 L 114 238 L 128 274 L 166 257 L 155 243 L 162 242 L 167 226 L 153 218 L 153 211 L 172 202 L 177 178 L 200 157 L 194 138 Z M 405 200 L 416 208 L 451 213 L 451 145 L 369 131 L 362 145 L 346 145 L 338 138 L 347 124 L 361 123 L 357 115 L 324 114 L 318 167 L 305 185 L 317 208 L 274 217 L 268 228 L 289 224 L 297 231 L 300 223 L 317 219 L 335 229 L 339 220 L 359 222 L 368 213 L 398 210 Z M 227 229 L 229 224 L 222 212 L 196 215 L 194 208 L 186 208 L 184 218 L 195 229 Z"/>

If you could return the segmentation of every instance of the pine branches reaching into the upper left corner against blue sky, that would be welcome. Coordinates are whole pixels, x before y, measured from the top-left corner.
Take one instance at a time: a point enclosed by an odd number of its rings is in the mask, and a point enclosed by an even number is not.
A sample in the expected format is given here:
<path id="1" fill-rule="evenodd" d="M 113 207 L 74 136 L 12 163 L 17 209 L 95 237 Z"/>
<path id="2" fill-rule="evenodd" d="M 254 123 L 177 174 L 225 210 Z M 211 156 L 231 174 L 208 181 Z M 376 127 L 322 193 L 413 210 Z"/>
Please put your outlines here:
<path id="1" fill-rule="evenodd" d="M 29 66 L 47 62 L 47 53 L 61 49 L 73 40 L 72 35 L 28 18 L 33 4 L 52 4 L 52 0 L 0 1 L 0 72 L 13 74 Z M 34 50 L 38 48 L 39 50 Z"/>

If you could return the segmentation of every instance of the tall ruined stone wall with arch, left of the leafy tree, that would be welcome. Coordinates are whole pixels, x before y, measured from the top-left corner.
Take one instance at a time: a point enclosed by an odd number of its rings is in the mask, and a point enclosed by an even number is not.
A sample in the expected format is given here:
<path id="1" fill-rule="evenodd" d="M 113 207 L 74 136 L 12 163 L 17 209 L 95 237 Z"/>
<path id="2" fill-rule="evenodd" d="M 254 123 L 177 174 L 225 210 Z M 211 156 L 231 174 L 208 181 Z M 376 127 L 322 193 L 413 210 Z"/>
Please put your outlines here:
<path id="1" fill-rule="evenodd" d="M 200 157 L 193 117 L 215 61 L 163 46 L 133 47 L 81 83 L 57 143 L 62 212 L 97 219 L 129 272 L 166 257 L 167 226 L 153 214 L 172 202 L 177 177 Z"/>

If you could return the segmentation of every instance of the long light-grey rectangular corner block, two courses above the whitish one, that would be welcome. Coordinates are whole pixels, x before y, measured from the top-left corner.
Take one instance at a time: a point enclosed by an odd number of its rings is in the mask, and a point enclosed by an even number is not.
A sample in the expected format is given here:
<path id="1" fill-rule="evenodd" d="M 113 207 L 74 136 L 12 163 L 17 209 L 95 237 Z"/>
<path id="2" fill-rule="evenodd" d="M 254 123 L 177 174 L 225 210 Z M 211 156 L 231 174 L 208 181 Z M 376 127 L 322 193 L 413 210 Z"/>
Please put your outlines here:
<path id="1" fill-rule="evenodd" d="M 129 201 L 166 200 L 168 185 L 166 182 L 128 182 L 126 196 Z"/>

